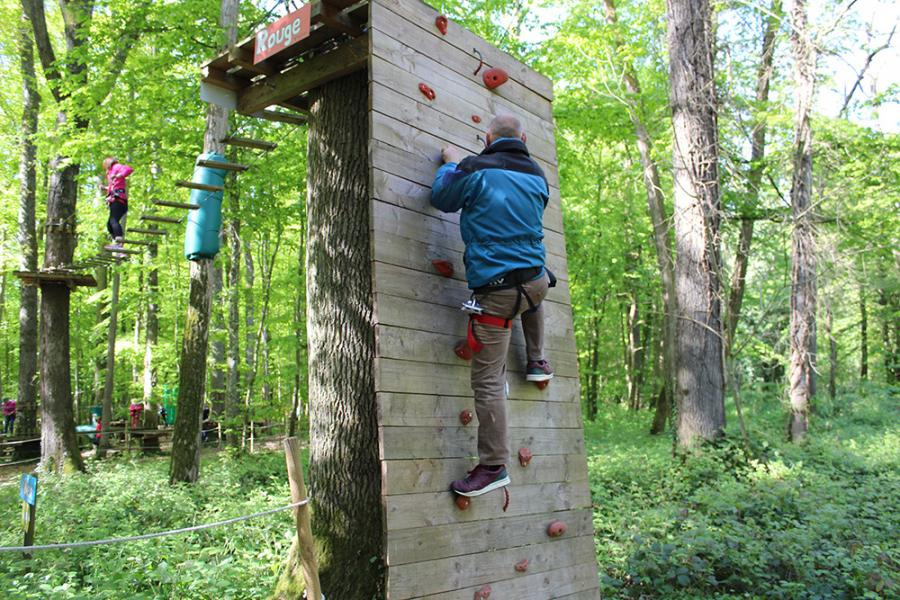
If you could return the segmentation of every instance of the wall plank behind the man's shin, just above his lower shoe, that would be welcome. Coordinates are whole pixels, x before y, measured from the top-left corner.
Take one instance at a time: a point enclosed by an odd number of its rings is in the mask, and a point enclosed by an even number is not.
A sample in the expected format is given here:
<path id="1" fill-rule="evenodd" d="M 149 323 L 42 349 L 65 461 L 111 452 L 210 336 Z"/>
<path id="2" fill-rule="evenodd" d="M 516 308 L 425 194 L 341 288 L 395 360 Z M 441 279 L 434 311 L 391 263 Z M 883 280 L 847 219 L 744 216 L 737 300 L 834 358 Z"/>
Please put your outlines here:
<path id="1" fill-rule="evenodd" d="M 459 419 L 444 427 L 382 427 L 381 460 L 414 458 L 466 458 L 477 448 L 478 428 L 462 425 Z M 579 422 L 575 429 L 509 427 L 509 447 L 529 448 L 535 454 L 584 454 L 584 434 Z M 448 482 L 449 484 L 449 482 Z"/>

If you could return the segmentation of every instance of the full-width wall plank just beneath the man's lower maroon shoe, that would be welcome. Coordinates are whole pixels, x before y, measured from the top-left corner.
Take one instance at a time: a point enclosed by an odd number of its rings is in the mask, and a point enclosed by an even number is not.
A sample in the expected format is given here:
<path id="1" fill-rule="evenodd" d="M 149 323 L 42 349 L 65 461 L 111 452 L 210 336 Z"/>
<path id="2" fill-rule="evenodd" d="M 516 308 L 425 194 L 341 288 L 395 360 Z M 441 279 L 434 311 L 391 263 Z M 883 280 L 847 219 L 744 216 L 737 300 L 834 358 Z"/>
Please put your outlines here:
<path id="1" fill-rule="evenodd" d="M 590 508 L 591 493 L 584 482 L 518 485 L 513 481 L 510 503 L 503 510 L 502 490 L 476 498 L 466 510 L 459 510 L 449 491 L 426 494 L 386 496 L 385 524 L 389 532 L 400 529 L 435 527 L 472 521 L 489 521 L 504 517 L 537 515 L 579 508 Z"/>

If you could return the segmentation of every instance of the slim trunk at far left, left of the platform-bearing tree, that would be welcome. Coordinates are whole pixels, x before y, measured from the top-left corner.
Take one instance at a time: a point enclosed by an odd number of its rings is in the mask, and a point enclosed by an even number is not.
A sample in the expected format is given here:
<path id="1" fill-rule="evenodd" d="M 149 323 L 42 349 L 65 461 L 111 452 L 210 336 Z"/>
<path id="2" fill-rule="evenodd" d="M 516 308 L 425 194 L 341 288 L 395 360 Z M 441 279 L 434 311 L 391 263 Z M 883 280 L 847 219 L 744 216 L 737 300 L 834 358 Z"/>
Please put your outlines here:
<path id="1" fill-rule="evenodd" d="M 19 58 L 22 68 L 22 150 L 19 157 L 19 268 L 37 270 L 37 235 L 35 232 L 35 155 L 40 96 L 34 71 L 34 43 L 31 27 L 22 19 L 19 24 Z M 31 437 L 37 432 L 37 287 L 19 288 L 19 391 L 16 401 L 16 433 Z M 26 450 L 16 447 L 16 458 L 25 458 Z M 30 448 L 29 448 L 30 450 Z"/>

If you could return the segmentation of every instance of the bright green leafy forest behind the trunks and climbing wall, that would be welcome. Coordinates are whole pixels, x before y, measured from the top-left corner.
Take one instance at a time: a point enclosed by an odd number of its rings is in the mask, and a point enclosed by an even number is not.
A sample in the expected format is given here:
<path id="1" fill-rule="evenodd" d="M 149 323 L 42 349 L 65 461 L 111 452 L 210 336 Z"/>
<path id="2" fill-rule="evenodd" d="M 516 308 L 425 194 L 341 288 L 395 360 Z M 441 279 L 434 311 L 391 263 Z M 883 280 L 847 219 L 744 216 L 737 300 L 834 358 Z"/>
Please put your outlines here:
<path id="1" fill-rule="evenodd" d="M 116 155 L 136 168 L 129 181 L 132 226 L 142 211 L 152 207 L 153 198 L 185 200 L 180 195 L 186 192 L 176 192 L 174 183 L 189 178 L 201 151 L 205 105 L 198 93 L 199 65 L 221 44 L 217 0 L 95 4 L 91 44 L 77 52 L 97 77 L 91 85 L 69 90 L 65 100 L 67 108 L 89 117 L 90 126 L 79 129 L 72 122 L 58 123 L 60 106 L 40 68 L 36 79 L 41 97 L 33 138 L 37 231 L 40 238 L 50 160 L 57 154 L 71 157 L 82 165 L 76 260 L 96 254 L 107 240 L 106 210 L 98 189 L 105 156 Z M 665 3 L 432 4 L 554 81 L 582 402 L 587 420 L 595 423 L 588 431 L 597 431 L 597 423 L 613 417 L 610 430 L 649 431 L 654 412 L 659 412 L 662 387 L 663 284 L 635 118 L 652 141 L 648 156 L 658 166 L 659 190 L 666 214 L 671 215 L 673 134 Z M 288 6 L 242 3 L 239 37 L 283 14 Z M 610 7 L 616 11 L 614 19 Z M 875 424 L 889 428 L 886 435 L 892 436 L 890 443 L 896 448 L 900 81 L 888 65 L 897 60 L 898 11 L 891 3 L 875 1 L 828 1 L 810 8 L 820 56 L 812 118 L 820 331 L 816 348 L 820 386 L 813 410 L 828 419 L 840 415 L 846 406 L 842 403 L 850 399 L 867 399 L 860 400 L 862 405 L 874 402 L 884 407 L 883 412 L 872 409 L 878 415 Z M 3 0 L 0 11 L 0 177 L 7 182 L 0 188 L 0 392 L 15 397 L 20 283 L 12 271 L 21 267 L 23 255 L 17 237 L 24 83 L 19 60 L 21 6 Z M 62 44 L 59 12 L 48 10 L 48 17 L 54 41 Z M 784 419 L 771 415 L 786 419 L 787 414 L 793 233 L 789 192 L 797 81 L 791 29 L 780 2 L 715 3 L 713 20 L 723 304 L 729 303 L 735 286 L 743 290 L 739 313 L 726 311 L 729 316 L 739 314 L 729 334 L 728 407 L 734 416 L 735 397 L 747 399 L 750 429 L 744 437 L 761 442 L 784 437 Z M 760 65 L 770 23 L 770 91 L 760 100 Z M 103 76 L 123 44 L 129 45 L 127 59 L 114 85 L 103 88 L 108 83 Z M 626 74 L 636 87 L 623 77 Z M 761 124 L 767 132 L 766 150 L 763 157 L 754 157 L 753 135 Z M 253 168 L 226 193 L 226 198 L 239 202 L 226 200 L 226 239 L 216 259 L 220 284 L 210 330 L 209 402 L 217 415 L 226 405 L 239 406 L 238 416 L 220 419 L 238 431 L 248 421 L 283 423 L 287 429 L 292 413 L 299 417 L 302 431 L 306 132 L 302 126 L 240 116 L 232 118 L 232 130 L 279 145 L 265 155 L 242 151 L 234 157 Z M 239 228 L 233 227 L 237 222 Z M 743 246 L 747 223 L 753 224 L 752 243 Z M 733 276 L 741 260 L 747 268 L 739 282 Z M 181 232 L 172 228 L 157 257 L 133 258 L 119 271 L 113 405 L 116 416 L 125 418 L 131 402 L 149 394 L 152 403 L 161 403 L 166 387 L 178 383 L 188 300 Z M 148 285 L 151 272 L 158 277 L 158 294 L 153 296 Z M 72 381 L 76 420 L 84 423 L 88 408 L 102 400 L 111 289 L 82 290 L 73 298 Z M 151 305 L 158 315 L 155 345 L 147 343 Z M 145 367 L 148 351 L 150 362 Z M 149 386 L 145 368 L 153 371 Z M 755 419 L 754 409 L 766 418 Z M 664 428 L 659 422 L 658 429 Z M 733 422 L 729 432 L 741 437 L 732 431 Z M 810 435 L 816 438 L 815 426 Z M 740 452 L 750 452 L 748 447 L 759 451 L 748 444 Z M 660 546 L 659 556 L 664 553 Z M 666 561 L 668 555 L 662 560 Z M 891 569 L 896 573 L 896 562 Z M 861 572 L 860 585 L 868 585 L 866 578 L 876 571 Z M 677 583 L 679 575 L 685 573 L 676 570 L 669 577 L 666 572 L 663 579 Z M 628 581 L 633 584 L 634 573 L 631 576 Z M 647 576 L 652 581 L 652 575 Z M 625 575 L 621 581 L 610 577 L 611 588 L 626 580 Z M 869 583 L 869 591 L 880 593 L 878 582 Z M 883 590 L 884 582 L 880 585 Z"/>

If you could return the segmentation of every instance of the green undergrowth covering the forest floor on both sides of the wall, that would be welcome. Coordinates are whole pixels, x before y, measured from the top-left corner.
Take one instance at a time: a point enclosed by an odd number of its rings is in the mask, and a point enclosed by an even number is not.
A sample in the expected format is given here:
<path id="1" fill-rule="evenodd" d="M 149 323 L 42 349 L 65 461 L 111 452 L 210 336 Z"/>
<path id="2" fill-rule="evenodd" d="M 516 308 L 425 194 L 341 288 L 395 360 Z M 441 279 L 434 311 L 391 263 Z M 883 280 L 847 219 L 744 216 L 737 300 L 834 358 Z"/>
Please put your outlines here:
<path id="1" fill-rule="evenodd" d="M 747 393 L 752 447 L 672 457 L 649 415 L 604 407 L 586 424 L 604 598 L 900 597 L 900 420 L 870 388 L 820 403 L 809 441 L 782 439 L 772 393 Z M 17 480 L 17 478 L 16 478 Z M 168 459 L 90 463 L 43 476 L 39 542 L 174 529 L 285 504 L 280 452 L 204 457 L 196 486 L 168 485 Z M 0 545 L 21 543 L 16 483 L 0 484 Z M 290 512 L 187 535 L 0 554 L 0 597 L 266 598 L 288 554 Z"/>

